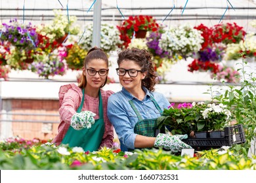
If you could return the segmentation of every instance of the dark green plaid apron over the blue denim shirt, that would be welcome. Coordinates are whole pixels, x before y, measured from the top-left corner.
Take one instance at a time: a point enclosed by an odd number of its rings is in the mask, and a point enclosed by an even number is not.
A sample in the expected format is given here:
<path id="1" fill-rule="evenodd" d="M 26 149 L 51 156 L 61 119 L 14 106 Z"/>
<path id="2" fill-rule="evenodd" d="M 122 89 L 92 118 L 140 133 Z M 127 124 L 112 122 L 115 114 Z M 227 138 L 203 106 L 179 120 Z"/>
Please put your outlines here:
<path id="1" fill-rule="evenodd" d="M 158 111 L 160 112 L 160 114 L 162 114 L 163 112 L 160 106 L 158 105 L 158 103 L 156 102 L 156 100 L 154 99 L 154 97 L 150 95 L 150 98 L 154 103 L 154 105 L 156 106 L 156 108 L 158 109 Z M 129 101 L 129 103 L 131 105 L 131 108 L 133 108 L 134 112 L 136 113 L 137 118 L 139 119 L 139 121 L 135 124 L 134 133 L 138 135 L 143 135 L 146 137 L 156 137 L 156 134 L 158 133 L 165 133 L 164 126 L 162 126 L 161 129 L 158 128 L 158 124 L 156 122 L 158 118 L 143 120 L 139 110 L 135 107 L 135 104 L 133 103 L 133 101 Z M 131 149 L 129 149 L 129 151 L 131 151 Z"/>

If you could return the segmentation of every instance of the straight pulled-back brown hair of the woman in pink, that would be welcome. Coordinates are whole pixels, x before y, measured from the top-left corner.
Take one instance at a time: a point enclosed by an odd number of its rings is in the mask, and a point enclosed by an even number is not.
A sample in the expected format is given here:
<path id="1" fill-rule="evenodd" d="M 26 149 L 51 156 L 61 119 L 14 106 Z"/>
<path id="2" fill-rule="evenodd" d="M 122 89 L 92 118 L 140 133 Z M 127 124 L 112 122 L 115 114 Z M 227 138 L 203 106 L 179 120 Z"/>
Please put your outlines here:
<path id="1" fill-rule="evenodd" d="M 94 48 L 91 48 L 91 50 L 89 50 L 89 52 L 87 53 L 87 56 L 85 57 L 85 60 L 83 61 L 83 67 L 86 68 L 88 63 L 93 59 L 103 59 L 104 61 L 106 61 L 106 64 L 108 65 L 108 56 L 101 48 L 97 48 L 96 46 Z M 104 84 L 102 86 L 100 86 L 100 88 L 105 86 L 107 81 L 108 81 L 108 76 L 106 77 Z M 87 84 L 87 80 L 86 80 L 85 75 L 81 75 L 78 87 L 85 88 L 86 84 Z"/>

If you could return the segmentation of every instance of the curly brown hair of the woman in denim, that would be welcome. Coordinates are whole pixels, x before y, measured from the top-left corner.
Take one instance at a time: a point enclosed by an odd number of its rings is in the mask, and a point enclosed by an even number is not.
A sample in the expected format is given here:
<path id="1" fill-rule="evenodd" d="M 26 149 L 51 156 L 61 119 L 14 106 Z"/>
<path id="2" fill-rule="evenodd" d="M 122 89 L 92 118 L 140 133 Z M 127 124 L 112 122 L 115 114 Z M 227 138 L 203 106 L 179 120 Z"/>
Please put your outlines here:
<path id="1" fill-rule="evenodd" d="M 139 65 L 142 72 L 147 72 L 146 77 L 142 80 L 142 86 L 146 87 L 150 92 L 154 92 L 156 85 L 156 78 L 158 77 L 154 71 L 152 62 L 152 54 L 146 49 L 127 48 L 118 54 L 117 64 L 125 60 L 132 60 Z"/>

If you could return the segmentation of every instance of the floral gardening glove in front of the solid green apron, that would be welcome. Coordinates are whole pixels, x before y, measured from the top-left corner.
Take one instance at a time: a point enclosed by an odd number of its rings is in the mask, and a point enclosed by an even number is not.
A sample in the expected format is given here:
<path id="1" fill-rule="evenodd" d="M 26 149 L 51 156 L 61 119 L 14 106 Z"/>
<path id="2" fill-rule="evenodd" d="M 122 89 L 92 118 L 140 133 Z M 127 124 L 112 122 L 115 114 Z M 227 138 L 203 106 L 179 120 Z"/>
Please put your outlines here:
<path id="1" fill-rule="evenodd" d="M 71 118 L 70 125 L 76 130 L 83 129 L 85 127 L 89 129 L 91 128 L 91 125 L 95 124 L 94 116 L 96 116 L 96 114 L 89 110 L 75 113 Z"/>

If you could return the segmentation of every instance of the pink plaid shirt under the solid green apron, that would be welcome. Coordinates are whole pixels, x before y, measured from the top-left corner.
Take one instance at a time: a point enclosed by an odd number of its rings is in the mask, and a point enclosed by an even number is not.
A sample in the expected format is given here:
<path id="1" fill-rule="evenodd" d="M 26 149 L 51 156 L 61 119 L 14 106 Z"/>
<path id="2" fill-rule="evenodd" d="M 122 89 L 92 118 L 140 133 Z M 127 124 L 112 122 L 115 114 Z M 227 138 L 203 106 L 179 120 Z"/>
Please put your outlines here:
<path id="1" fill-rule="evenodd" d="M 102 105 L 104 112 L 104 124 L 105 131 L 102 137 L 102 142 L 100 147 L 106 146 L 112 148 L 113 139 L 114 139 L 114 128 L 107 116 L 107 105 L 108 97 L 112 95 L 112 91 L 100 90 L 102 97 Z M 67 84 L 60 87 L 60 92 L 58 93 L 60 99 L 60 108 L 58 112 L 60 113 L 60 125 L 58 125 L 58 135 L 53 139 L 53 143 L 59 145 L 62 142 L 62 139 L 66 135 L 68 128 L 70 127 L 70 120 L 72 116 L 76 113 L 77 108 L 81 104 L 83 93 L 81 88 L 75 84 Z M 83 110 L 90 110 L 96 114 L 95 120 L 99 118 L 98 116 L 98 98 L 90 97 L 85 94 L 85 101 L 83 103 Z"/>

